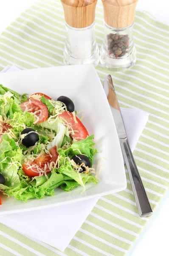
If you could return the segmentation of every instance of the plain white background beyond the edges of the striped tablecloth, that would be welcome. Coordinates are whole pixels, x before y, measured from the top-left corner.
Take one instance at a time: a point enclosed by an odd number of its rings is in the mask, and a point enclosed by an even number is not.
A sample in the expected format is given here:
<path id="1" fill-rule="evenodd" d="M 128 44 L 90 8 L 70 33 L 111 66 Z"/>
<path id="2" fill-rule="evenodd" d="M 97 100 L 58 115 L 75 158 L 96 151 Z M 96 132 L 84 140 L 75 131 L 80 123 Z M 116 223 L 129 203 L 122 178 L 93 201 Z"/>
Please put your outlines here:
<path id="1" fill-rule="evenodd" d="M 36 0 L 0 0 L 0 33 Z M 163 23 L 169 23 L 168 0 L 138 0 L 137 9 L 146 10 Z M 169 192 L 141 232 L 127 256 L 169 255 Z"/>

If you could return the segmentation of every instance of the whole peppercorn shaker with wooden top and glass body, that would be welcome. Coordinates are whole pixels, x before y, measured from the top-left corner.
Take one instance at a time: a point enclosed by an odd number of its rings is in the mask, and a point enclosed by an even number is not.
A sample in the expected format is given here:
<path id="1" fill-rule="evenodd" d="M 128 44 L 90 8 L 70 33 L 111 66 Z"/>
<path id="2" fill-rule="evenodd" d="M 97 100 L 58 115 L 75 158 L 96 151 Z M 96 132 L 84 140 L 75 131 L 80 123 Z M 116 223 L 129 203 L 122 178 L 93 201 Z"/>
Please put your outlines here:
<path id="1" fill-rule="evenodd" d="M 102 0 L 104 8 L 104 41 L 101 64 L 113 71 L 131 67 L 136 61 L 133 22 L 138 0 Z"/>

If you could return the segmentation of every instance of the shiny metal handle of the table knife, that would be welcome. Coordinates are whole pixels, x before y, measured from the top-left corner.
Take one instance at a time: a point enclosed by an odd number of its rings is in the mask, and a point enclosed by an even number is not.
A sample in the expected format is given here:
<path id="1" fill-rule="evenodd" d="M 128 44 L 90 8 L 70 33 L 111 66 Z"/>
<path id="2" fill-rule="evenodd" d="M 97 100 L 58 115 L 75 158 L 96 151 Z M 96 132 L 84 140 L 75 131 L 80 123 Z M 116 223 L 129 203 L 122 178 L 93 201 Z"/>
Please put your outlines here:
<path id="1" fill-rule="evenodd" d="M 135 164 L 135 160 L 133 158 L 127 138 L 120 139 L 120 145 L 124 154 L 124 159 L 132 184 L 132 190 L 135 196 L 136 205 L 138 207 L 138 213 L 140 217 L 148 217 L 152 215 L 153 212 L 149 204 L 149 200 L 147 198 L 146 191 L 144 189 L 141 177 Z"/>

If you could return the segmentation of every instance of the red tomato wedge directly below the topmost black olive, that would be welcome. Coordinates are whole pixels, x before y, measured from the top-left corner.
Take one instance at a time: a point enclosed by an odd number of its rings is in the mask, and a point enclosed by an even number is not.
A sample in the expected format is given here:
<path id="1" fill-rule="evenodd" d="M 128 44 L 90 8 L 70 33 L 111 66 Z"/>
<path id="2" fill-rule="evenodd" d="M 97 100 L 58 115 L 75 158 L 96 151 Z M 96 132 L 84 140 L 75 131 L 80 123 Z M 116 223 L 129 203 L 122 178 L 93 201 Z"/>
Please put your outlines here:
<path id="1" fill-rule="evenodd" d="M 73 139 L 83 140 L 87 136 L 89 136 L 88 131 L 85 128 L 85 125 L 82 124 L 78 117 L 76 117 L 77 122 L 75 122 L 75 120 L 73 119 L 73 114 L 68 111 L 62 112 L 61 114 L 59 114 L 59 116 L 65 119 L 68 123 L 71 123 L 71 127 L 74 131 L 74 134 L 71 133 L 71 137 Z M 72 130 L 69 128 L 69 131 Z"/>

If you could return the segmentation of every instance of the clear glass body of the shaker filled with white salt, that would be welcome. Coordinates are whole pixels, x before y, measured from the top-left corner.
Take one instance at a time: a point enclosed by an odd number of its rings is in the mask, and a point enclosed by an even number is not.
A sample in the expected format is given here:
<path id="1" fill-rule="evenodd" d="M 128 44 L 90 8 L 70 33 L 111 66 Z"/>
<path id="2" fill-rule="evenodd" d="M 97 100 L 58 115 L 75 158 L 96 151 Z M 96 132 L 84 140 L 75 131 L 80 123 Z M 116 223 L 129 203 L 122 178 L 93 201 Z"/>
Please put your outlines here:
<path id="1" fill-rule="evenodd" d="M 93 64 L 99 63 L 99 47 L 96 44 L 94 23 L 85 28 L 74 28 L 66 23 L 66 42 L 64 63 Z"/>

